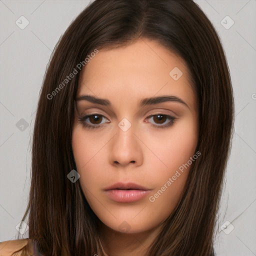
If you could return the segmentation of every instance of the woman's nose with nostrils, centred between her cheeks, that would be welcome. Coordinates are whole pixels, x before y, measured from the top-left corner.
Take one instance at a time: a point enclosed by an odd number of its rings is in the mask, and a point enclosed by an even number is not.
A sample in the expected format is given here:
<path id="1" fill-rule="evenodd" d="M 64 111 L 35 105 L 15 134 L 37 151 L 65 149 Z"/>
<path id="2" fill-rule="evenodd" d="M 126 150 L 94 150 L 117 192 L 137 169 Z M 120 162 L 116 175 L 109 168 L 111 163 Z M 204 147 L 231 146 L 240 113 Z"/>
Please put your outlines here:
<path id="1" fill-rule="evenodd" d="M 121 127 L 121 126 L 120 126 Z M 139 166 L 143 162 L 141 142 L 134 133 L 133 125 L 126 131 L 116 127 L 116 134 L 109 144 L 109 161 L 115 166 Z"/>

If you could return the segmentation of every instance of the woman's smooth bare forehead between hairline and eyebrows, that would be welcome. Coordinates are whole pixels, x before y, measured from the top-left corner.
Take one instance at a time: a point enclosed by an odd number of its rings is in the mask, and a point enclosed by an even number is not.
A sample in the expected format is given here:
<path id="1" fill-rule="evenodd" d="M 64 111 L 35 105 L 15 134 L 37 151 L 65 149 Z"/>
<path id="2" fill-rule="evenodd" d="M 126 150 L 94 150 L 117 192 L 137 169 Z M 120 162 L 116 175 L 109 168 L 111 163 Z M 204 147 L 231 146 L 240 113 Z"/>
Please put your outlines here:
<path id="1" fill-rule="evenodd" d="M 104 98 L 118 96 L 120 101 L 170 93 L 190 104 L 195 100 L 184 60 L 147 39 L 99 50 L 81 72 L 77 95 L 83 93 Z"/>

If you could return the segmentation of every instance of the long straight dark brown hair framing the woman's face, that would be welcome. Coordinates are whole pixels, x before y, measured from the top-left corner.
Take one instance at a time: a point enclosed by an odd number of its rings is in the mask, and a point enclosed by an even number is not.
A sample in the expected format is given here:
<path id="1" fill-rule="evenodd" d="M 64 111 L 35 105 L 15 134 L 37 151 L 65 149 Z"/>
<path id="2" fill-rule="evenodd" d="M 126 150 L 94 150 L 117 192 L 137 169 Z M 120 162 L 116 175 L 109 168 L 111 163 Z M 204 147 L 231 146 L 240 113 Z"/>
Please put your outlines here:
<path id="1" fill-rule="evenodd" d="M 44 255 L 106 255 L 99 239 L 99 219 L 79 182 L 67 178 L 76 169 L 71 135 L 80 70 L 68 83 L 63 81 L 94 49 L 119 47 L 138 38 L 155 40 L 185 60 L 199 100 L 196 151 L 201 155 L 191 165 L 182 198 L 164 221 L 148 255 L 214 254 L 216 213 L 234 118 L 231 80 L 220 39 L 192 0 L 95 0 L 61 36 L 40 91 L 31 188 L 22 220 L 28 214 L 29 239 L 37 241 Z"/>

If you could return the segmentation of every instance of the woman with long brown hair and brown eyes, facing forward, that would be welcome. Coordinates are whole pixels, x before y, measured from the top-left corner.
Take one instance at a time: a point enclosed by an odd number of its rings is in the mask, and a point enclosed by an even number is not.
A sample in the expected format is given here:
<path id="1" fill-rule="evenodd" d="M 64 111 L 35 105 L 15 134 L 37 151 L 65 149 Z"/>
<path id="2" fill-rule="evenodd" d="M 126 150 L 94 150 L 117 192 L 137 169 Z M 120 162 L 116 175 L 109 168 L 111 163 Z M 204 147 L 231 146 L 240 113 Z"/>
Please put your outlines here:
<path id="1" fill-rule="evenodd" d="M 29 239 L 0 251 L 214 255 L 232 128 L 225 55 L 192 0 L 93 1 L 45 73 Z"/>

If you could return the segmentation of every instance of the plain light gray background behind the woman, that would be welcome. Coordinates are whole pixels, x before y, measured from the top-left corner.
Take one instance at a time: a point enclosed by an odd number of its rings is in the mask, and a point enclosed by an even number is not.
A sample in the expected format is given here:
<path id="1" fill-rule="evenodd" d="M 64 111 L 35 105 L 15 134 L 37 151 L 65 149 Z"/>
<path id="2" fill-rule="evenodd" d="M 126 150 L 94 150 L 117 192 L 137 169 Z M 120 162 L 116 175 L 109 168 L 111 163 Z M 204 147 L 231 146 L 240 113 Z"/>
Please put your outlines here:
<path id="1" fill-rule="evenodd" d="M 0 0 L 0 241 L 17 238 L 15 226 L 28 201 L 34 117 L 46 64 L 60 35 L 88 2 Z M 215 250 L 221 256 L 252 256 L 256 255 L 256 0 L 195 2 L 220 35 L 235 98 L 235 132 Z M 15 23 L 24 24 L 21 15 L 29 21 L 24 29 Z M 231 224 L 221 230 L 225 221 Z"/>

